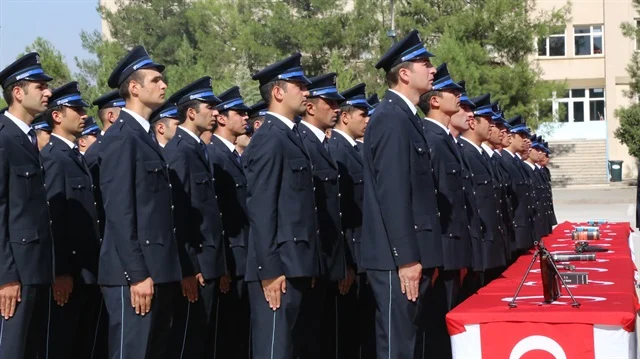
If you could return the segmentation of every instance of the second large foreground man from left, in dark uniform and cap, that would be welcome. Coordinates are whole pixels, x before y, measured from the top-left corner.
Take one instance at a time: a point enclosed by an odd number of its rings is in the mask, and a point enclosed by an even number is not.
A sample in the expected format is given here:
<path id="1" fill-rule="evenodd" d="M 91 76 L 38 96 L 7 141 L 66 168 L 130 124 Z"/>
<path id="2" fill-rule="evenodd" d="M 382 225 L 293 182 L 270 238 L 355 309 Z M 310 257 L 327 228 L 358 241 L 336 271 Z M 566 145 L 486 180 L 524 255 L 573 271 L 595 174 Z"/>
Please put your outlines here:
<path id="1" fill-rule="evenodd" d="M 107 223 L 98 283 L 109 312 L 110 357 L 165 355 L 173 299 L 182 279 L 169 171 L 148 121 L 164 101 L 162 70 L 136 46 L 108 80 L 126 102 L 100 150 Z"/>

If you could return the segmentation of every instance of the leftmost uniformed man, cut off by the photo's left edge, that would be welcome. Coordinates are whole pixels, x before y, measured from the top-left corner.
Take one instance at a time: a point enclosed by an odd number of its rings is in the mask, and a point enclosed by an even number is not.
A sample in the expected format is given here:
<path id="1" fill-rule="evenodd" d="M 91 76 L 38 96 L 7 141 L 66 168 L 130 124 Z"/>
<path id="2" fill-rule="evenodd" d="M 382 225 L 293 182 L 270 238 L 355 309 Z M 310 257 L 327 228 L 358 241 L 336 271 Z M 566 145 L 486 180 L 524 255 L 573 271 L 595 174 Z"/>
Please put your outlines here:
<path id="1" fill-rule="evenodd" d="M 0 358 L 35 358 L 46 333 L 53 243 L 36 134 L 51 77 L 37 53 L 0 71 L 8 109 L 0 115 Z M 28 347 L 27 347 L 27 344 Z"/>

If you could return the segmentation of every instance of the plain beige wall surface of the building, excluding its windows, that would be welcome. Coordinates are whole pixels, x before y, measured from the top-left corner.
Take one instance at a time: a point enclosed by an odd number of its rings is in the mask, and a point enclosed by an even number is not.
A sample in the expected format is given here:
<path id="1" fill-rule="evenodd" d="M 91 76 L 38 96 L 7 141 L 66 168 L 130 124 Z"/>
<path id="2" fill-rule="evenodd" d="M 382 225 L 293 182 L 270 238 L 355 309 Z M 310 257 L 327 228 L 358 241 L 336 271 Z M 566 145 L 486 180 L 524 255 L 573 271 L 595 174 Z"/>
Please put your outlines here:
<path id="1" fill-rule="evenodd" d="M 629 63 L 635 44 L 622 36 L 620 24 L 634 22 L 639 17 L 631 0 L 572 0 L 571 17 L 565 30 L 564 57 L 537 58 L 546 80 L 566 81 L 568 88 L 605 88 L 607 155 L 611 160 L 623 160 L 623 176 L 635 177 L 636 161 L 629 156 L 628 149 L 614 137 L 619 126 L 614 112 L 629 105 L 623 95 L 628 84 L 626 65 Z M 537 7 L 549 11 L 566 4 L 564 0 L 539 0 Z M 604 25 L 603 55 L 575 56 L 574 25 Z"/>

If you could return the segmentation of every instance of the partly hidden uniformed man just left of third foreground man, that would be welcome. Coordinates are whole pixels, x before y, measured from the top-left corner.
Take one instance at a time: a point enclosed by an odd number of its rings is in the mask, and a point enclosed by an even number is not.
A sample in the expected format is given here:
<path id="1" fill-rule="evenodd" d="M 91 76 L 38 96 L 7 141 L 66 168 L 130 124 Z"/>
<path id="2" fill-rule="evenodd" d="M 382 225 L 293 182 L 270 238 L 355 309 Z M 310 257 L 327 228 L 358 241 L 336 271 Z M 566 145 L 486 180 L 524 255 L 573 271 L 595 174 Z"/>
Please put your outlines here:
<path id="1" fill-rule="evenodd" d="M 244 274 L 247 267 L 247 179 L 242 170 L 240 153 L 234 143 L 247 132 L 247 112 L 237 86 L 220 94 L 216 108 L 219 116 L 211 144 L 210 160 L 216 178 L 215 189 L 224 228 L 224 248 L 231 279 L 228 293 L 218 297 L 216 352 L 219 358 L 248 358 L 249 293 Z"/>

